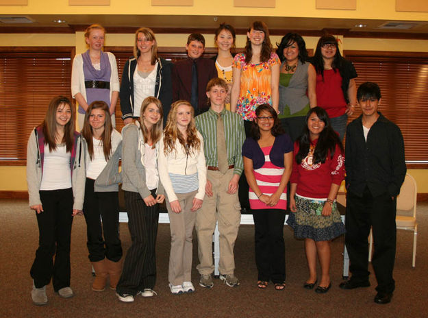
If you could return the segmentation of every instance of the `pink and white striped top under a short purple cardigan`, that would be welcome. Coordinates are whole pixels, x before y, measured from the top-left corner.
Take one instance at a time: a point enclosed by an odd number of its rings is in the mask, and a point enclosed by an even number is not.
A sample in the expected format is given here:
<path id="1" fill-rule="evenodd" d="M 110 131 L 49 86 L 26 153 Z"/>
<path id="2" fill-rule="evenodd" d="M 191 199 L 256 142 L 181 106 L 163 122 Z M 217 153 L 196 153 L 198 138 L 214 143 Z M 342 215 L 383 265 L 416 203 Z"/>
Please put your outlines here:
<path id="1" fill-rule="evenodd" d="M 260 191 L 264 195 L 273 195 L 281 182 L 282 175 L 284 173 L 284 167 L 275 166 L 270 162 L 270 150 L 272 146 L 261 148 L 264 154 L 264 164 L 261 168 L 254 170 L 255 181 L 259 186 Z M 257 198 L 253 189 L 249 190 L 249 201 L 252 210 L 257 209 L 287 209 L 287 188 L 284 189 L 284 193 L 279 197 L 279 201 L 276 206 L 266 206 L 260 199 Z"/>

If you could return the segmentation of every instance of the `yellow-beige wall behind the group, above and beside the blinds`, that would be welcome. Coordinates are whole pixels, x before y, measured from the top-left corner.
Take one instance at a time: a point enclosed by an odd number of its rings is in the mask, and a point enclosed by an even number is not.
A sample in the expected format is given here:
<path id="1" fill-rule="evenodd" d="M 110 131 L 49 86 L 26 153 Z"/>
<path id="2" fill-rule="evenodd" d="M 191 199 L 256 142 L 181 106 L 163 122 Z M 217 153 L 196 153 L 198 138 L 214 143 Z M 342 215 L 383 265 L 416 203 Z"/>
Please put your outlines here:
<path id="1" fill-rule="evenodd" d="M 62 0 L 32 0 L 26 6 L 2 5 L 2 14 L 171 14 L 219 16 L 301 16 L 341 19 L 389 19 L 428 21 L 428 13 L 395 12 L 394 0 L 357 0 L 357 10 L 316 10 L 314 0 L 276 1 L 276 8 L 234 8 L 232 0 L 218 0 L 216 5 L 206 5 L 206 0 L 194 0 L 193 7 L 152 7 L 150 0 L 111 0 L 110 6 L 69 6 Z M 207 47 L 214 46 L 212 34 L 204 34 Z M 161 47 L 180 47 L 186 43 L 187 34 L 158 34 Z M 272 36 L 273 43 L 281 36 Z M 237 37 L 237 47 L 243 47 L 245 36 Z M 317 38 L 305 37 L 308 49 L 314 49 Z M 131 46 L 133 34 L 108 34 L 105 45 Z M 0 46 L 75 46 L 76 53 L 86 49 L 83 32 L 76 34 L 0 34 Z M 392 40 L 344 38 L 341 49 L 373 51 L 422 51 L 428 52 L 428 40 Z M 428 193 L 428 169 L 409 171 L 418 182 L 418 192 Z M 0 166 L 0 191 L 26 191 L 25 167 Z"/>

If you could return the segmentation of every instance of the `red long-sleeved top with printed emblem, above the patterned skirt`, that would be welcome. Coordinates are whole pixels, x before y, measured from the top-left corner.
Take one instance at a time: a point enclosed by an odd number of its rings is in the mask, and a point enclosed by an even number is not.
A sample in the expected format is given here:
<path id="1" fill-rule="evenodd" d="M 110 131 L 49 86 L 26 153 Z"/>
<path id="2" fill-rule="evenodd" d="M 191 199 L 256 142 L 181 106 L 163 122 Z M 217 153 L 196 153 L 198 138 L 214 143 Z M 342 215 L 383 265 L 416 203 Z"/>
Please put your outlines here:
<path id="1" fill-rule="evenodd" d="M 344 154 L 336 145 L 334 156 L 331 159 L 327 155 L 324 163 L 312 163 L 312 154 L 318 139 L 311 144 L 309 154 L 297 164 L 293 160 L 293 169 L 290 183 L 297 183 L 298 195 L 302 197 L 312 197 L 314 199 L 325 199 L 328 197 L 331 184 L 341 184 L 344 179 Z M 294 158 L 299 152 L 299 143 L 294 143 Z"/>

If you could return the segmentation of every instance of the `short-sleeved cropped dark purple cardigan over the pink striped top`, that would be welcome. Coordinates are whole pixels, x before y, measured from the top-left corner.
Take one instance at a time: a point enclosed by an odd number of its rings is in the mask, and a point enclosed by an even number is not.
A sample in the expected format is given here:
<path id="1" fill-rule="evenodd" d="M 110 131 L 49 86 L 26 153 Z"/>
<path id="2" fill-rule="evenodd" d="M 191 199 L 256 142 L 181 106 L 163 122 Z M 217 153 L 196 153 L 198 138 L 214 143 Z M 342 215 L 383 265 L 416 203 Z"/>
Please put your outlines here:
<path id="1" fill-rule="evenodd" d="M 270 162 L 277 167 L 284 167 L 284 154 L 293 151 L 293 143 L 288 134 L 281 134 L 275 137 L 272 149 L 270 149 Z M 257 140 L 247 138 L 242 145 L 242 156 L 253 160 L 253 169 L 259 169 L 264 164 L 264 154 Z"/>

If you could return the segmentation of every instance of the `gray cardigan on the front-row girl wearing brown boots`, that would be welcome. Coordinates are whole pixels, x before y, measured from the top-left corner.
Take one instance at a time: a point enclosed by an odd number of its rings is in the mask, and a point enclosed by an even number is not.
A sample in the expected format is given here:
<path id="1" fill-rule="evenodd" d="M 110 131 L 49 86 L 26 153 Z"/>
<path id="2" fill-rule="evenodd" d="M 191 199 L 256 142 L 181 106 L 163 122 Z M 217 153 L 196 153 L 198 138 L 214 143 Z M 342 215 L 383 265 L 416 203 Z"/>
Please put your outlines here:
<path id="1" fill-rule="evenodd" d="M 119 183 L 122 182 L 121 173 L 118 171 L 119 158 L 122 154 L 122 136 L 117 130 L 112 131 L 112 149 L 114 149 L 114 153 L 110 157 L 110 160 L 108 160 L 103 171 L 99 174 L 97 180 L 95 180 L 95 192 L 119 191 Z M 89 154 L 86 151 L 86 164 L 89 163 L 89 160 Z"/>

